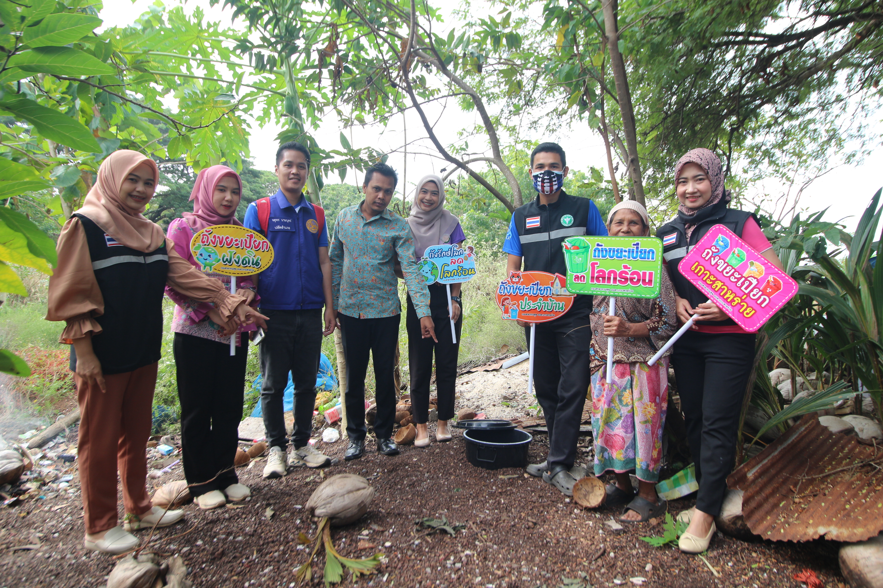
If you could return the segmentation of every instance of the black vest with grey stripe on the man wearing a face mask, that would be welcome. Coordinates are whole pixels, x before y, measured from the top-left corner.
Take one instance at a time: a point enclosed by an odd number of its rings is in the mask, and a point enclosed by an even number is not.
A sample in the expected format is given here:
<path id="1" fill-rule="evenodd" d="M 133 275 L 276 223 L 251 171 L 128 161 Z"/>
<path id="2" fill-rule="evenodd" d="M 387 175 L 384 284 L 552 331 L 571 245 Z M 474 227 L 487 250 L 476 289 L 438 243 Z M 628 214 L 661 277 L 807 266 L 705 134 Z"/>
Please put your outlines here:
<path id="1" fill-rule="evenodd" d="M 537 195 L 532 202 L 512 212 L 525 272 L 567 275 L 561 244 L 568 237 L 585 234 L 591 202 L 589 198 L 573 197 L 561 190 L 558 200 L 550 205 L 541 205 Z M 577 294 L 572 308 L 592 308 L 592 296 Z"/>

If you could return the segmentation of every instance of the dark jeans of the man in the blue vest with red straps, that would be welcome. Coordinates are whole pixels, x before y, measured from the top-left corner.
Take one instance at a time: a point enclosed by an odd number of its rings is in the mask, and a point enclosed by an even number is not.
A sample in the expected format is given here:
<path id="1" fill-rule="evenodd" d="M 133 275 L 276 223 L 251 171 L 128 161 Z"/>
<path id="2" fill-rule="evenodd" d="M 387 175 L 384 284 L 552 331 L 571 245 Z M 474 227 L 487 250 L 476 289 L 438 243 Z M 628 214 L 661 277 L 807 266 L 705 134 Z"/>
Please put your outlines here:
<path id="1" fill-rule="evenodd" d="M 267 429 L 270 447 L 288 444 L 285 439 L 283 395 L 288 386 L 288 372 L 294 383 L 294 431 L 291 444 L 303 447 L 313 432 L 313 409 L 316 404 L 316 374 L 322 349 L 322 309 L 260 309 L 268 316 L 267 336 L 259 349 L 260 410 Z"/>

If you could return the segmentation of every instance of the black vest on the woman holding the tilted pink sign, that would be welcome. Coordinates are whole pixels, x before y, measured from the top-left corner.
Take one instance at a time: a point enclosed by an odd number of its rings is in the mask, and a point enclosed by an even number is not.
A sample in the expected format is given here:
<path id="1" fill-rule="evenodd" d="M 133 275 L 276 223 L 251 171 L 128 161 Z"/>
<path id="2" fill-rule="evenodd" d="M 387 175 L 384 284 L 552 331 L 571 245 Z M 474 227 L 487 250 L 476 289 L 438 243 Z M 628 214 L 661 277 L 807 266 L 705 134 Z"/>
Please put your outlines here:
<path id="1" fill-rule="evenodd" d="M 754 219 L 755 221 L 758 220 L 753 212 L 737 211 L 732 208 L 722 207 L 719 212 L 713 214 L 706 220 L 700 221 L 699 224 L 693 228 L 693 232 L 690 234 L 689 243 L 687 242 L 687 232 L 684 222 L 679 217 L 669 220 L 668 223 L 656 229 L 656 236 L 659 237 L 663 243 L 662 257 L 665 258 L 665 261 L 668 264 L 668 275 L 671 276 L 671 282 L 675 287 L 675 292 L 677 292 L 677 295 L 681 298 L 690 302 L 690 306 L 694 309 L 699 304 L 707 302 L 708 296 L 702 294 L 698 287 L 693 286 L 690 280 L 683 277 L 677 264 L 680 264 L 681 260 L 684 257 L 687 257 L 687 253 L 690 251 L 691 247 L 695 245 L 699 239 L 708 232 L 708 229 L 714 225 L 723 225 L 741 237 L 745 221 L 749 219 Z M 759 224 L 760 223 L 758 222 L 758 225 Z M 675 240 L 669 242 L 668 245 L 665 245 L 666 237 L 670 240 L 672 234 L 675 234 Z M 696 321 L 695 324 L 724 326 L 736 324 L 736 321 L 728 318 L 723 321 Z"/>

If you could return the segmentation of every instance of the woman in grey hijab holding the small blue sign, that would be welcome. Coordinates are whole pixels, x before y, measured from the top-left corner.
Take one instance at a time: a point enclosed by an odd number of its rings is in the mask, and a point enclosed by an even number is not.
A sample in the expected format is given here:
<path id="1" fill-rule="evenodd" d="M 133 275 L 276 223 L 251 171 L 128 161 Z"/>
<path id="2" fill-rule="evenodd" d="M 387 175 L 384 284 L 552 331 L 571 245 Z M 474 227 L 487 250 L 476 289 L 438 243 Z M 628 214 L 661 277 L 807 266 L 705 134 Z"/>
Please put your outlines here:
<path id="1" fill-rule="evenodd" d="M 466 235 L 456 216 L 444 209 L 444 183 L 438 175 L 426 175 L 417 183 L 411 215 L 408 217 L 411 233 L 414 234 L 414 249 L 417 261 L 423 257 L 427 247 L 463 243 Z M 460 284 L 450 285 L 451 312 L 448 311 L 448 291 L 443 284 L 429 285 L 429 311 L 434 324 L 454 321 L 457 330 L 457 343 L 451 339 L 450 329 L 437 328 L 433 339 L 423 339 L 420 321 L 411 295 L 408 295 L 408 359 L 411 371 L 411 406 L 417 438 L 414 445 L 429 445 L 429 381 L 433 375 L 433 352 L 435 353 L 435 387 L 438 391 L 438 425 L 436 441 L 450 441 L 448 421 L 454 416 L 454 389 L 457 383 L 457 354 L 460 351 L 461 316 Z"/>

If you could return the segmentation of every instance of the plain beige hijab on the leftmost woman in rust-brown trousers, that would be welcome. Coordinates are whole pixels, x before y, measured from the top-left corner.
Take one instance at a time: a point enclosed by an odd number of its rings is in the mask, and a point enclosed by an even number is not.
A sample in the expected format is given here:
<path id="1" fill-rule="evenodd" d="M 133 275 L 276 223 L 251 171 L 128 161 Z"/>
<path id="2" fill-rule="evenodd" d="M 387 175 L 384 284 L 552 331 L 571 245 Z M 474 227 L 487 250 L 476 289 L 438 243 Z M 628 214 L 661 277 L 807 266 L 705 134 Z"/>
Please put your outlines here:
<path id="1" fill-rule="evenodd" d="M 159 182 L 159 168 L 147 155 L 128 149 L 110 153 L 98 168 L 98 180 L 77 212 L 93 220 L 117 242 L 148 253 L 165 242 L 162 228 L 145 218 L 143 206 L 129 208 L 119 197 L 119 189 L 126 177 L 142 163 L 153 169 L 154 181 Z"/>

